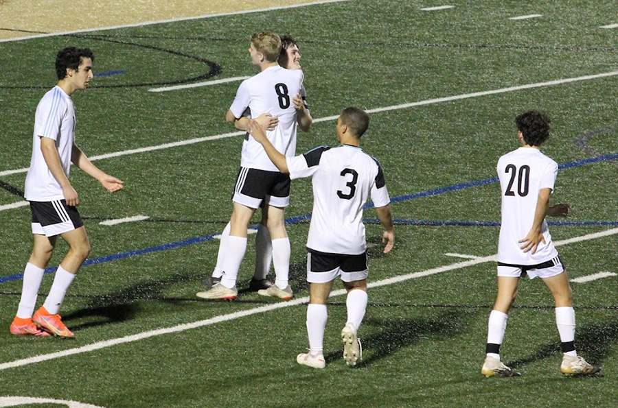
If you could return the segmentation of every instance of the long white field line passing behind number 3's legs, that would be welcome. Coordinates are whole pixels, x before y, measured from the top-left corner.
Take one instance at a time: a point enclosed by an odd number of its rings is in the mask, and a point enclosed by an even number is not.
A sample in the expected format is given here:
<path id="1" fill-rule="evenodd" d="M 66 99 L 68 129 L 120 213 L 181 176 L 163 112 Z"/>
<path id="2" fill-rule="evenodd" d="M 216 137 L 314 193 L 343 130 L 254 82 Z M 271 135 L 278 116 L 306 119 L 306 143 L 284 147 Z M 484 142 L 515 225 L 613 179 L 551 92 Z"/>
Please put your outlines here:
<path id="1" fill-rule="evenodd" d="M 618 228 L 613 228 L 611 230 L 606 230 L 602 232 L 595 232 L 593 234 L 582 235 L 580 237 L 574 237 L 571 239 L 565 239 L 563 241 L 556 241 L 554 242 L 554 245 L 555 246 L 568 245 L 569 243 L 588 241 L 591 239 L 607 237 L 609 235 L 615 235 L 615 234 L 618 234 Z M 424 276 L 431 276 L 435 274 L 441 274 L 442 272 L 452 271 L 453 269 L 461 269 L 461 268 L 472 266 L 472 265 L 479 265 L 480 263 L 495 262 L 496 260 L 497 260 L 497 255 L 479 256 L 477 259 L 470 259 L 469 261 L 451 263 L 450 265 L 434 267 L 431 269 L 426 269 L 421 272 L 412 272 L 410 274 L 393 276 L 393 278 L 377 280 L 376 282 L 368 283 L 367 287 L 371 288 L 371 287 L 382 287 L 386 285 L 393 285 L 394 283 L 400 283 L 406 280 L 422 278 Z M 345 295 L 345 293 L 347 293 L 345 289 L 339 289 L 339 290 L 336 290 L 330 293 L 330 297 L 334 298 L 336 296 L 342 296 L 342 295 Z M 7 370 L 9 368 L 22 367 L 23 365 L 41 363 L 43 361 L 58 359 L 60 357 L 78 355 L 83 352 L 91 352 L 94 350 L 100 350 L 102 348 L 117 346 L 119 344 L 132 343 L 133 341 L 148 339 L 150 337 L 155 337 L 159 335 L 166 335 L 170 333 L 180 333 L 183 331 L 190 330 L 192 328 L 210 326 L 211 324 L 227 322 L 229 320 L 236 320 L 236 319 L 239 319 L 240 317 L 247 317 L 247 316 L 255 315 L 258 313 L 266 313 L 268 311 L 283 309 L 284 307 L 297 306 L 299 304 L 304 304 L 306 302 L 309 302 L 308 296 L 305 296 L 304 298 L 288 300 L 287 302 L 277 302 L 273 304 L 267 304 L 266 306 L 255 307 L 253 309 L 228 313 L 227 315 L 218 315 L 218 316 L 206 319 L 206 320 L 198 320 L 197 322 L 179 324 L 177 326 L 172 326 L 168 328 L 158 328 L 156 330 L 137 333 L 136 335 L 118 337 L 116 339 L 97 341 L 95 343 L 88 344 L 87 346 L 70 348 L 69 350 L 62 350 L 58 352 L 52 352 L 46 355 L 38 355 L 34 357 L 27 357 L 26 359 L 19 359 L 19 360 L 10 361 L 8 363 L 2 363 L 0 364 L 0 371 Z"/>

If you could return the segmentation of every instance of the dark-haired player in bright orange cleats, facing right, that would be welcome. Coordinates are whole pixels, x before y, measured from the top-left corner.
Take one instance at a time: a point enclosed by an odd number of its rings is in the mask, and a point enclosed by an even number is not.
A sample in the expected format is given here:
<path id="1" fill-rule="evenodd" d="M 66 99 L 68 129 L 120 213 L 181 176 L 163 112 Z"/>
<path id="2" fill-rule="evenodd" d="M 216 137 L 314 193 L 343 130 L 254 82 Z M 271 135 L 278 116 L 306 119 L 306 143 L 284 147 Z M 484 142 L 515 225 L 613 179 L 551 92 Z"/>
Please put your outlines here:
<path id="1" fill-rule="evenodd" d="M 14 335 L 75 337 L 62 323 L 58 310 L 65 293 L 90 253 L 90 243 L 76 206 L 78 193 L 69 182 L 71 162 L 99 180 L 110 192 L 123 182 L 93 165 L 75 143 L 75 108 L 71 95 L 92 80 L 94 56 L 90 49 L 66 47 L 58 52 L 58 84 L 36 107 L 32 158 L 25 180 L 25 199 L 32 211 L 32 254 L 23 272 L 23 290 L 10 332 Z M 56 270 L 43 306 L 32 315 L 43 272 L 52 258 L 58 235 L 69 252 Z"/>

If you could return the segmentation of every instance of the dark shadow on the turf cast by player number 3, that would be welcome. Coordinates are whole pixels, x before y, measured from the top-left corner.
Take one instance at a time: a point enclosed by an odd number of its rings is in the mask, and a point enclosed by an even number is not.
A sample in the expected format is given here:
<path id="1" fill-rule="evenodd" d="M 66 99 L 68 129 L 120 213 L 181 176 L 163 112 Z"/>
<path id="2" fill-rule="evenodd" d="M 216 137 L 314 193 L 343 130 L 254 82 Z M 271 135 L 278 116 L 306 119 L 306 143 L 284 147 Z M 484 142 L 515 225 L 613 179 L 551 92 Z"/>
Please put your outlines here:
<path id="1" fill-rule="evenodd" d="M 374 361 L 393 355 L 402 348 L 413 346 L 425 339 L 454 337 L 466 328 L 466 313 L 460 310 L 440 313 L 433 319 L 378 320 L 365 319 L 363 326 L 374 326 L 377 332 L 361 336 L 363 360 L 356 367 L 367 368 Z M 325 356 L 327 362 L 343 358 L 343 351 Z"/>

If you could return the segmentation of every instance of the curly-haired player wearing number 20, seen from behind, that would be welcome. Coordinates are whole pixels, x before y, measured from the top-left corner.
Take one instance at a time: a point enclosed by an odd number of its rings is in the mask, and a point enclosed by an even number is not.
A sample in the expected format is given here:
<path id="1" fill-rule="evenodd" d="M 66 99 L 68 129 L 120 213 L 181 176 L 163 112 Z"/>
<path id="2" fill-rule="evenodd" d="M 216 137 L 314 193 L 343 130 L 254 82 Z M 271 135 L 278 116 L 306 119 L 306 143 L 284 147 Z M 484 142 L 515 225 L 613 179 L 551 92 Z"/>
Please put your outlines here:
<path id="1" fill-rule="evenodd" d="M 500 361 L 508 313 L 515 301 L 522 274 L 539 276 L 556 303 L 556 326 L 564 353 L 560 371 L 565 375 L 599 371 L 575 352 L 575 311 L 567 272 L 551 241 L 545 216 L 564 216 L 567 204 L 549 206 L 558 165 L 540 152 L 549 138 L 549 118 L 534 110 L 515 119 L 521 147 L 498 160 L 502 190 L 502 223 L 498 243 L 498 295 L 488 324 L 487 357 L 481 373 L 486 376 L 518 376 Z"/>

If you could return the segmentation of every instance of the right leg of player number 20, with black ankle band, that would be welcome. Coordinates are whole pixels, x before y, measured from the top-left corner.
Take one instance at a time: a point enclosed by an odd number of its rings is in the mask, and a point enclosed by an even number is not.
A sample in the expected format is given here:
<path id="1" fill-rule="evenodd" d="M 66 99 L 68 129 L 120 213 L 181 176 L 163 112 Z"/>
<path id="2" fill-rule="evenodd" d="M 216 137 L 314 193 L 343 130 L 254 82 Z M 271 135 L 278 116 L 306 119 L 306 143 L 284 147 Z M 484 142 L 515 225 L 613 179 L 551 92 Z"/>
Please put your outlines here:
<path id="1" fill-rule="evenodd" d="M 562 269 L 562 265 L 560 265 L 560 269 Z M 549 276 L 551 272 L 548 273 L 547 270 L 539 271 L 539 273 L 556 302 L 556 326 L 560 334 L 560 348 L 562 350 L 560 371 L 565 375 L 595 374 L 600 368 L 587 363 L 586 360 L 577 355 L 575 350 L 575 310 L 572 300 L 573 291 L 571 285 L 569 285 L 567 271 L 553 276 Z"/>

